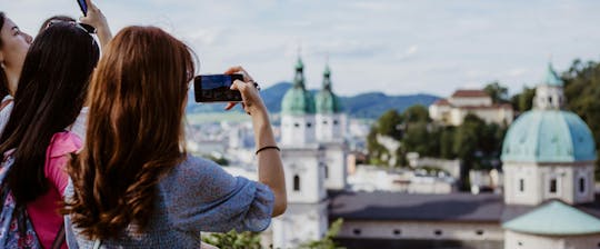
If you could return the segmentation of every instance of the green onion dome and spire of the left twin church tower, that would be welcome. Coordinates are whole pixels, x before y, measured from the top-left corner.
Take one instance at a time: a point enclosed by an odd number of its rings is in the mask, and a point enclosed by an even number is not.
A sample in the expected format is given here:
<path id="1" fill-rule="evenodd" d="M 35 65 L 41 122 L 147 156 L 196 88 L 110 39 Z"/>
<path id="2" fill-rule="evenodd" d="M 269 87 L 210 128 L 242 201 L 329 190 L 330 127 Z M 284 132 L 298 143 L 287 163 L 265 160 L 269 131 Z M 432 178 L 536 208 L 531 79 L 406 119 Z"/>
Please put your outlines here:
<path id="1" fill-rule="evenodd" d="M 293 87 L 286 92 L 281 101 L 282 114 L 302 116 L 314 113 L 314 100 L 312 94 L 304 88 L 303 69 L 302 60 L 298 58 Z"/>

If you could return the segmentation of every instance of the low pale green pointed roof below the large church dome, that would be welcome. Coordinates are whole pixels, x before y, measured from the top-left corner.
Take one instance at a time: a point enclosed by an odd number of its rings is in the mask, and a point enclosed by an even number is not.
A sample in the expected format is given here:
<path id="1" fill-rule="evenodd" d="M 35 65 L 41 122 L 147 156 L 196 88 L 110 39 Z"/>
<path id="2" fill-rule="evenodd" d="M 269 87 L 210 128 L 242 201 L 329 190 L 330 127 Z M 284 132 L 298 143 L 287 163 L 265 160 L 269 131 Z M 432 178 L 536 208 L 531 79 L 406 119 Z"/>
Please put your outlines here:
<path id="1" fill-rule="evenodd" d="M 551 201 L 502 225 L 531 235 L 581 236 L 600 233 L 600 220 L 560 201 Z"/>

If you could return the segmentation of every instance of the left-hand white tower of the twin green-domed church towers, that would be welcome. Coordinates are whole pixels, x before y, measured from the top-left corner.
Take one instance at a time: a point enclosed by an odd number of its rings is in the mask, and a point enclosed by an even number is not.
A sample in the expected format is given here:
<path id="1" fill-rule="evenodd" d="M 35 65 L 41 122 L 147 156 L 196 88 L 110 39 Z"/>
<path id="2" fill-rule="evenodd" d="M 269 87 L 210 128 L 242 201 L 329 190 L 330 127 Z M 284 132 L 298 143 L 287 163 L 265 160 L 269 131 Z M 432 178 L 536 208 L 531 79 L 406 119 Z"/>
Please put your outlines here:
<path id="1" fill-rule="evenodd" d="M 288 209 L 272 222 L 273 248 L 297 248 L 327 232 L 324 150 L 314 139 L 314 100 L 304 88 L 303 63 L 281 103 L 281 159 Z"/>

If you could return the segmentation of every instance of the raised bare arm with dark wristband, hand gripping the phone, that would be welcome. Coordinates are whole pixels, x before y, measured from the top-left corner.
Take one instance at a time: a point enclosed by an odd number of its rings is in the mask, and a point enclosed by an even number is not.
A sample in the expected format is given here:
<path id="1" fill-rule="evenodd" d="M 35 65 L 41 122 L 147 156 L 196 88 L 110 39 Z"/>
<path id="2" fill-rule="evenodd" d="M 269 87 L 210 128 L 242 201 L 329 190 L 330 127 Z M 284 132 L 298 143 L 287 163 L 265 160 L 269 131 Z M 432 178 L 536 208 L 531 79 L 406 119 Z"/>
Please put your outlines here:
<path id="1" fill-rule="evenodd" d="M 274 140 L 269 112 L 262 102 L 254 81 L 241 67 L 233 67 L 226 73 L 242 73 L 244 81 L 237 80 L 231 89 L 241 92 L 242 107 L 248 114 L 252 117 L 252 127 L 254 129 L 254 143 L 257 146 L 258 173 L 259 181 L 269 186 L 274 195 L 274 207 L 272 216 L 282 215 L 288 206 L 286 196 L 286 178 L 283 176 L 283 163 L 281 155 Z M 236 103 L 229 103 L 226 109 L 231 109 Z"/>

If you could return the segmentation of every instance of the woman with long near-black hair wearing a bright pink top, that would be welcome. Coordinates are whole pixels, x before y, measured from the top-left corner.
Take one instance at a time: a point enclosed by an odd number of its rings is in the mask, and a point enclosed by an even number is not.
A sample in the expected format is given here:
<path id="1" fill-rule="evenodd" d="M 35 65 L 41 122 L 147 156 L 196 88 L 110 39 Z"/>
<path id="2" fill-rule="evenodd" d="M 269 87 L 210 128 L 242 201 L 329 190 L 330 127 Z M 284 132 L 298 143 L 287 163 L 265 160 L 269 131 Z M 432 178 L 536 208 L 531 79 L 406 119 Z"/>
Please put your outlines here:
<path id="1" fill-rule="evenodd" d="M 4 162 L 12 161 L 2 189 L 10 190 L 14 210 L 27 210 L 20 215 L 29 217 L 44 248 L 62 227 L 59 202 L 68 185 L 63 167 L 81 148 L 80 138 L 64 130 L 83 107 L 99 54 L 96 40 L 79 24 L 51 23 L 27 53 L 14 107 L 0 136 Z"/>

